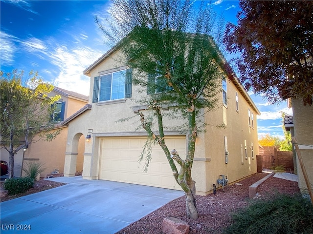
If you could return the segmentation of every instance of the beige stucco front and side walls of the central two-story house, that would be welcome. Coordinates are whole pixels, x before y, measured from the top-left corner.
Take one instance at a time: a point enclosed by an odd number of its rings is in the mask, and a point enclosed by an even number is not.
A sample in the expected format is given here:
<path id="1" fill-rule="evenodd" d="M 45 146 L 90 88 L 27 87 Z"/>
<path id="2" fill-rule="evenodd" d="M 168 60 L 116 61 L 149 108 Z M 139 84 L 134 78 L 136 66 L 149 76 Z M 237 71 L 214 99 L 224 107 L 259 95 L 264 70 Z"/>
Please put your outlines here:
<path id="1" fill-rule="evenodd" d="M 143 111 L 134 100 L 139 99 L 144 93 L 138 94 L 137 87 L 133 85 L 132 98 L 107 101 L 92 102 L 93 78 L 96 76 L 112 72 L 118 67 L 126 69 L 123 64 L 117 62 L 112 56 L 107 58 L 101 64 L 96 66 L 90 73 L 90 93 L 89 104 L 92 104 L 91 110 L 76 117 L 68 123 L 69 131 L 67 137 L 65 176 L 73 176 L 72 164 L 75 161 L 75 151 L 77 142 L 75 137 L 83 134 L 91 134 L 92 139 L 85 146 L 84 170 L 85 179 L 98 179 L 99 169 L 99 143 L 101 137 L 112 136 L 145 136 L 146 133 L 140 128 L 140 117 L 136 116 L 124 122 L 118 120 L 127 117 L 133 117 L 136 114 L 134 109 L 139 109 L 145 116 L 150 111 Z M 121 70 L 122 70 L 121 69 Z M 239 112 L 236 111 L 234 84 L 227 82 L 228 104 L 222 104 L 222 92 L 220 95 L 220 108 L 202 117 L 203 121 L 208 123 L 206 132 L 197 137 L 195 161 L 193 164 L 193 179 L 196 181 L 197 193 L 205 195 L 213 189 L 213 184 L 219 175 L 228 177 L 229 182 L 237 181 L 243 177 L 256 173 L 256 155 L 258 154 L 257 137 L 257 118 L 256 112 L 248 105 L 245 98 L 239 95 Z M 254 128 L 248 125 L 248 107 L 254 114 Z M 170 110 L 169 110 L 170 111 Z M 169 111 L 164 111 L 168 113 Z M 180 119 L 163 119 L 167 126 L 179 126 L 182 124 Z M 224 129 L 215 126 L 224 123 Z M 139 127 L 139 128 L 138 128 Z M 136 129 L 138 130 L 136 131 Z M 154 127 L 156 129 L 156 127 Z M 180 129 L 185 130 L 185 129 Z M 169 135 L 177 135 L 179 132 L 167 132 Z M 224 137 L 228 140 L 228 163 L 225 164 Z M 243 154 L 245 154 L 245 140 L 247 141 L 247 158 L 241 154 L 241 145 L 243 145 Z M 250 145 L 254 143 L 254 156 L 251 158 Z M 173 178 L 174 180 L 174 178 Z M 217 185 L 218 186 L 218 185 Z"/>

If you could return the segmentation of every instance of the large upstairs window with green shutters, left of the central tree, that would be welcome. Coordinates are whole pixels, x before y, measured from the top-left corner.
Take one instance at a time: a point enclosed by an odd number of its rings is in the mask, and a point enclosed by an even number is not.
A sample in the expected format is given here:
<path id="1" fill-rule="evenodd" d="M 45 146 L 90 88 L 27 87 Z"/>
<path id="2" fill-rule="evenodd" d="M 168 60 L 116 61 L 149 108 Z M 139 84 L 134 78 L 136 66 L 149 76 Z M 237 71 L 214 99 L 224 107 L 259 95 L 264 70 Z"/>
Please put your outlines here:
<path id="1" fill-rule="evenodd" d="M 95 77 L 92 102 L 132 97 L 132 69 Z"/>

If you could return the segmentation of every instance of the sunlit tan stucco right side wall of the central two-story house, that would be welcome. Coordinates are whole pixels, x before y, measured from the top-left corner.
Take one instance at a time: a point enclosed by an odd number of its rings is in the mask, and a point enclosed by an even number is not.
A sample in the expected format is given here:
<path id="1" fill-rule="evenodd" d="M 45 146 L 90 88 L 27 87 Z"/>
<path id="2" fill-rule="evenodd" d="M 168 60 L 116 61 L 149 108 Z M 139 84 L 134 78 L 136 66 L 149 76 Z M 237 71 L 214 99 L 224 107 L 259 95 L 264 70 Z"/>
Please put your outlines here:
<path id="1" fill-rule="evenodd" d="M 258 135 L 256 111 L 248 105 L 245 98 L 238 91 L 239 111 L 237 111 L 236 91 L 235 85 L 227 82 L 227 106 L 222 104 L 221 94 L 219 105 L 221 108 L 205 116 L 205 122 L 208 125 L 206 132 L 197 138 L 194 164 L 201 170 L 194 168 L 193 171 L 198 180 L 202 181 L 197 183 L 198 194 L 204 195 L 200 191 L 212 191 L 213 184 L 216 184 L 217 187 L 221 186 L 217 184 L 220 175 L 227 176 L 229 183 L 232 183 L 257 172 Z M 253 128 L 248 124 L 248 108 L 254 115 Z M 219 129 L 216 127 L 223 123 L 226 125 L 224 128 Z M 225 163 L 224 137 L 227 137 L 229 153 L 227 163 Z M 247 157 L 245 156 L 245 140 Z M 252 158 L 250 149 L 251 142 L 254 146 L 254 158 Z"/>

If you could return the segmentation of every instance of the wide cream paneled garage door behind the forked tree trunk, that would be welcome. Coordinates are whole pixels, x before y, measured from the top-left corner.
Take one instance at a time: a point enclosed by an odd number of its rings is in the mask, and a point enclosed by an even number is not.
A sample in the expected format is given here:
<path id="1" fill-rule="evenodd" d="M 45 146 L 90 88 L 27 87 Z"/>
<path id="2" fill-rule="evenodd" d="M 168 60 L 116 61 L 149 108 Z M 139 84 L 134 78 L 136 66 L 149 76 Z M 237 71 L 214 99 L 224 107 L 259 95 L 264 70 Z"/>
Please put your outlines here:
<path id="1" fill-rule="evenodd" d="M 99 178 L 161 188 L 180 189 L 170 165 L 159 145 L 153 146 L 152 161 L 147 172 L 144 161 L 138 162 L 146 137 L 106 137 L 100 144 Z M 186 138 L 166 137 L 168 149 L 176 149 L 182 158 L 186 154 Z M 179 170 L 178 166 L 178 170 Z"/>

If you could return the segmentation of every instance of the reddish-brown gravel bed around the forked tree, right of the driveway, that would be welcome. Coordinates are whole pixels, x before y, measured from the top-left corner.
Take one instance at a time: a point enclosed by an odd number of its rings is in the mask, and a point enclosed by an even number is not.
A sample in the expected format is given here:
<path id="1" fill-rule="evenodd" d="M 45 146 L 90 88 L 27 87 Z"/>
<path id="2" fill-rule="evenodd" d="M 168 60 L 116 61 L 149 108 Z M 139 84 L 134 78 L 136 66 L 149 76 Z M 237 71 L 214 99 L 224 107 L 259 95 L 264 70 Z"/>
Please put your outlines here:
<path id="1" fill-rule="evenodd" d="M 220 234 L 223 228 L 230 224 L 231 213 L 248 205 L 250 201 L 248 187 L 266 175 L 256 173 L 238 182 L 242 185 L 229 185 L 225 192 L 219 189 L 216 194 L 196 196 L 199 212 L 197 220 L 186 217 L 183 196 L 132 223 L 117 234 L 162 234 L 161 223 L 165 217 L 176 217 L 187 222 L 190 226 L 189 234 Z M 271 176 L 260 185 L 255 199 L 276 193 L 292 195 L 300 193 L 300 190 L 297 182 Z"/>

